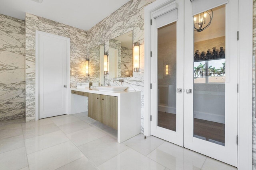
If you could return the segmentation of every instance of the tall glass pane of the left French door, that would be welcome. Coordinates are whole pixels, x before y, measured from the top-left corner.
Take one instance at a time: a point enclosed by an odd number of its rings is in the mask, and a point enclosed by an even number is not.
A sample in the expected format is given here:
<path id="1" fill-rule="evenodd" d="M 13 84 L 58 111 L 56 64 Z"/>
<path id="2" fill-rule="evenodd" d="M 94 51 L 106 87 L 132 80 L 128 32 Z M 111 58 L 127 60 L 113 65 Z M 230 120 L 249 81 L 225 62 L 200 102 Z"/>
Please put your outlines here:
<path id="1" fill-rule="evenodd" d="M 158 28 L 159 127 L 176 131 L 176 22 Z"/>

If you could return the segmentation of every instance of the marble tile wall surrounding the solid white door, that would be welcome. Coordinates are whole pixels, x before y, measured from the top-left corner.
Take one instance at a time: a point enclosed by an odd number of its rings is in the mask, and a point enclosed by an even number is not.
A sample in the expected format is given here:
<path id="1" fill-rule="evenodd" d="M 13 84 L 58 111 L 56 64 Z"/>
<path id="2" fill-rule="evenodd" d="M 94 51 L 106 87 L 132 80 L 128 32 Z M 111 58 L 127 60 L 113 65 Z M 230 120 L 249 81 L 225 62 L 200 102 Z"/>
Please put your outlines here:
<path id="1" fill-rule="evenodd" d="M 36 30 L 70 38 L 70 86 L 88 82 L 83 66 L 86 59 L 87 32 L 46 18 L 26 13 L 26 121 L 35 120 Z"/>

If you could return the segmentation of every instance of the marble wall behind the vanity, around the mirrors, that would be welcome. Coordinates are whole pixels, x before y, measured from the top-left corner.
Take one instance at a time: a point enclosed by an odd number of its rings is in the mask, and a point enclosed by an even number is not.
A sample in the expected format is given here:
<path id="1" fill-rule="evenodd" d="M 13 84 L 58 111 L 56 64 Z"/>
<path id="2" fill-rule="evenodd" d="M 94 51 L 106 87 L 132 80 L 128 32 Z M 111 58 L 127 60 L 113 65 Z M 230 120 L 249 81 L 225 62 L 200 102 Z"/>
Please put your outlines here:
<path id="1" fill-rule="evenodd" d="M 88 48 L 105 43 L 105 52 L 108 52 L 108 41 L 119 35 L 133 32 L 133 41 L 140 43 L 140 72 L 134 72 L 133 77 L 124 79 L 124 86 L 130 90 L 140 90 L 141 95 L 141 131 L 144 131 L 144 7 L 155 0 L 131 0 L 116 10 L 110 16 L 97 23 L 87 31 Z M 120 86 L 120 78 L 106 76 L 106 84 Z"/>

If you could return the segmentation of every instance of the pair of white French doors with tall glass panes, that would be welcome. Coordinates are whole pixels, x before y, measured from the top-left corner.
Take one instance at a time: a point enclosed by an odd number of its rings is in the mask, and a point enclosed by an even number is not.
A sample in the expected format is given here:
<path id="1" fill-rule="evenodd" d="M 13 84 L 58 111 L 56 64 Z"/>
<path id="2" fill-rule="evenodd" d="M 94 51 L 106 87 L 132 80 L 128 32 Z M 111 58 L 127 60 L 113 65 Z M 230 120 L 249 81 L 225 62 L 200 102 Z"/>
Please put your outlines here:
<path id="1" fill-rule="evenodd" d="M 238 0 L 166 2 L 151 13 L 151 134 L 237 166 Z"/>

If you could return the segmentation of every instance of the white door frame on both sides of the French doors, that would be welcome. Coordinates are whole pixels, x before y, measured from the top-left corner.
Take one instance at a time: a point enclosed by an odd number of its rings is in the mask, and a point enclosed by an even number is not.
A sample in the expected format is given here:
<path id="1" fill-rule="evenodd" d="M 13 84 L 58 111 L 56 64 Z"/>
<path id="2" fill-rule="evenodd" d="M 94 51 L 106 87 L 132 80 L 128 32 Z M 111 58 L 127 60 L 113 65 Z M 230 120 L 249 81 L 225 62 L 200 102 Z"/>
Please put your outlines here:
<path id="1" fill-rule="evenodd" d="M 173 2 L 157 0 L 144 8 L 144 135 L 150 136 L 150 14 Z M 244 20 L 246 18 L 246 20 Z M 244 25 L 247 25 L 244 27 Z M 252 169 L 252 0 L 238 0 L 238 169 Z M 234 35 L 236 36 L 236 35 Z M 153 56 L 154 57 L 154 56 Z M 245 69 L 246 68 L 246 69 Z M 243 76 L 240 76 L 243 75 Z"/>

